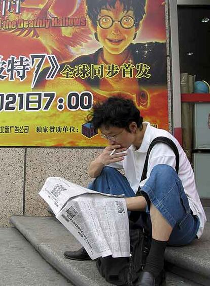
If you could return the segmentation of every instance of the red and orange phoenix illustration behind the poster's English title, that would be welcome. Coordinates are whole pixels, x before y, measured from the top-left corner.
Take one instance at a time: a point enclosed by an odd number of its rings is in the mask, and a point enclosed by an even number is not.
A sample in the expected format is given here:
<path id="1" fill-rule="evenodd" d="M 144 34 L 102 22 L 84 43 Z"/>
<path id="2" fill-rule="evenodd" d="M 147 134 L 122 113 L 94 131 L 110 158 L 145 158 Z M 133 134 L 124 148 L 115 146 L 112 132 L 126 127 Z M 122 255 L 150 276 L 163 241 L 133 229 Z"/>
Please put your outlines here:
<path id="1" fill-rule="evenodd" d="M 52 19 L 54 17 L 71 17 L 71 18 L 86 18 L 85 0 L 64 1 L 65 14 L 60 11 L 60 0 L 48 0 L 43 7 L 28 7 L 21 6 L 21 13 L 7 13 L 2 16 L 2 20 L 9 19 L 11 21 L 19 19 L 34 20 L 34 19 Z M 1 6 L 1 2 L 0 2 Z M 39 5 L 40 6 L 40 5 Z M 1 7 L 0 7 L 1 8 Z M 55 14 L 57 12 L 57 14 Z M 56 55 L 58 61 L 71 60 L 74 58 L 72 48 L 83 46 L 91 40 L 91 30 L 89 26 L 68 26 L 68 27 L 33 27 L 33 28 L 15 28 L 3 30 L 5 32 L 15 33 L 17 36 L 31 37 L 39 39 L 47 48 L 50 54 Z"/>

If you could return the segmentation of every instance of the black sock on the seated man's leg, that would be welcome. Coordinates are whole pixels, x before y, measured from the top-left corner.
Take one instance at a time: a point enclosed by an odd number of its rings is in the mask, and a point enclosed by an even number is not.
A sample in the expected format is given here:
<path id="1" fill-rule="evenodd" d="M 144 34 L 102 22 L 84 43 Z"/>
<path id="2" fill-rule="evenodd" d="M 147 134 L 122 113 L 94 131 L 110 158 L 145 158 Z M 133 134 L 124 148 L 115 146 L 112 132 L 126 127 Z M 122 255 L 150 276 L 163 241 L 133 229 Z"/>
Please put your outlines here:
<path id="1" fill-rule="evenodd" d="M 167 241 L 159 241 L 152 238 L 150 253 L 147 257 L 144 271 L 158 276 L 164 267 L 164 252 Z"/>

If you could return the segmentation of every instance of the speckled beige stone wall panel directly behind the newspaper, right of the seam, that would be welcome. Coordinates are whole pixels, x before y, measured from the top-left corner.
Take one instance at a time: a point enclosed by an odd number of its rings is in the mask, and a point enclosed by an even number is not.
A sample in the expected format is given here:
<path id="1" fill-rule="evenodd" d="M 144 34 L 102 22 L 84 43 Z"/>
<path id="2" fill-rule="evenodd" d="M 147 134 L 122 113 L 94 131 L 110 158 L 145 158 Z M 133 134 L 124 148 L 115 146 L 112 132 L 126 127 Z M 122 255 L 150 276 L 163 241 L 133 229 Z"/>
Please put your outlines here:
<path id="1" fill-rule="evenodd" d="M 88 165 L 100 151 L 98 148 L 28 148 L 25 214 L 49 215 L 47 204 L 38 195 L 48 177 L 63 177 L 87 186 L 91 181 Z"/>

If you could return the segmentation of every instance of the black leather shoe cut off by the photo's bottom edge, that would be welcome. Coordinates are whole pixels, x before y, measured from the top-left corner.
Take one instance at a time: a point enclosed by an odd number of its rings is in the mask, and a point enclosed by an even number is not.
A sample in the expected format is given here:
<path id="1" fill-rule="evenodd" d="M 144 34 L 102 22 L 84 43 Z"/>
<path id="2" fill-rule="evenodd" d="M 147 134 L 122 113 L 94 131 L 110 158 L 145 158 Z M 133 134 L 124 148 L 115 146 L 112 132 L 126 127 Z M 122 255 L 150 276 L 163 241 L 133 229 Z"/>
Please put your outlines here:
<path id="1" fill-rule="evenodd" d="M 158 276 L 147 271 L 142 271 L 136 286 L 166 286 L 165 271 L 161 271 Z"/>

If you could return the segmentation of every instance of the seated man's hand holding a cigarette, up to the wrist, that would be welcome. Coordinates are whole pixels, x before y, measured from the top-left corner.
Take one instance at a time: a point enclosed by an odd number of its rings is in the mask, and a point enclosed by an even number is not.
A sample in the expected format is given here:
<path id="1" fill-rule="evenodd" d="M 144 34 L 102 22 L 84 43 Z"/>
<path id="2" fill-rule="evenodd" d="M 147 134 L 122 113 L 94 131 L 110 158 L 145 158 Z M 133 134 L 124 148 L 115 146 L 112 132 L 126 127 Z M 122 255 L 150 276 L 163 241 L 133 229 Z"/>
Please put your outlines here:
<path id="1" fill-rule="evenodd" d="M 116 149 L 114 154 L 110 155 L 114 149 Z M 127 150 L 126 148 L 121 148 L 120 145 L 110 145 L 103 149 L 103 152 L 96 158 L 95 161 L 97 161 L 98 163 L 101 163 L 103 166 L 109 165 L 111 163 L 120 162 L 127 155 L 127 153 L 124 152 L 126 150 Z M 124 152 L 124 153 L 120 153 L 120 152 Z"/>

